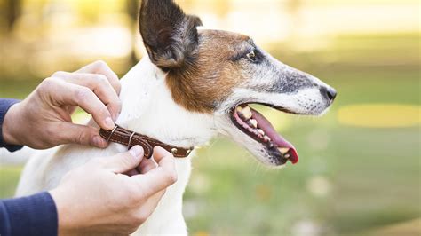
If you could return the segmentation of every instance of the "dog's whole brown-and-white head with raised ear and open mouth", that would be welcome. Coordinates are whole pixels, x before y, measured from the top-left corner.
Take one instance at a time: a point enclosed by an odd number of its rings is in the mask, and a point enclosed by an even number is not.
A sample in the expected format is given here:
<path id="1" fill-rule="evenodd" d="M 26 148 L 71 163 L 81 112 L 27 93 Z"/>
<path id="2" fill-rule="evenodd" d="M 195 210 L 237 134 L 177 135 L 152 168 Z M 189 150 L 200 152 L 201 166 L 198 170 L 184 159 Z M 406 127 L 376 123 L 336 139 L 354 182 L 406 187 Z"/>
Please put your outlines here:
<path id="1" fill-rule="evenodd" d="M 248 105 L 318 115 L 336 97 L 333 88 L 282 64 L 249 36 L 197 29 L 201 20 L 172 0 L 143 0 L 139 21 L 149 58 L 167 72 L 166 83 L 179 106 L 213 115 L 220 132 L 267 165 L 298 161 L 294 146 Z"/>

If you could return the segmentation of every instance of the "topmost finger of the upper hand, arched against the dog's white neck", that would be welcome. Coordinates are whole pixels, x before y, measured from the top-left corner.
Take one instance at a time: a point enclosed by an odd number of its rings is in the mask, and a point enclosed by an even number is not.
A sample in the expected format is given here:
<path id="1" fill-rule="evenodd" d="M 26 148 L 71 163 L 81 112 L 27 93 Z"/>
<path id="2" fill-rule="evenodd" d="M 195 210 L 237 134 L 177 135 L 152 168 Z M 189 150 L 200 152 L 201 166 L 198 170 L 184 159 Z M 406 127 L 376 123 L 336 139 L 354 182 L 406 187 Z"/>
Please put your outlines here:
<path id="1" fill-rule="evenodd" d="M 102 60 L 95 61 L 89 64 L 86 67 L 82 67 L 81 69 L 77 70 L 75 73 L 90 73 L 90 74 L 100 74 L 105 75 L 113 86 L 115 92 L 120 94 L 121 84 L 118 79 L 118 76 L 115 75 L 114 71 L 108 67 L 107 63 Z"/>

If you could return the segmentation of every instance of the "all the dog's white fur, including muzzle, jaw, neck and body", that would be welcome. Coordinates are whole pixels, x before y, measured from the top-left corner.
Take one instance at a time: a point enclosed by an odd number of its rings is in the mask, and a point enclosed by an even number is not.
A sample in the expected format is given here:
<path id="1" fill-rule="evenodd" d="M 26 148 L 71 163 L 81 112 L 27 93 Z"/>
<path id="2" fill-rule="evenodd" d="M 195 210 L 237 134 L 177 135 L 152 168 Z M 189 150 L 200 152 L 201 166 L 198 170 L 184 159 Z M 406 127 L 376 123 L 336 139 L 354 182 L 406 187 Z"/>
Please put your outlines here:
<path id="1" fill-rule="evenodd" d="M 247 148 L 259 161 L 269 166 L 279 165 L 266 153 L 265 147 L 238 130 L 227 111 L 242 102 L 266 102 L 289 108 L 302 114 L 320 114 L 327 105 L 320 91 L 314 88 L 293 94 L 256 92 L 238 88 L 232 91 L 215 114 L 188 112 L 176 104 L 165 83 L 165 74 L 145 57 L 122 79 L 122 113 L 117 123 L 124 128 L 156 138 L 173 146 L 203 146 L 218 133 L 225 134 Z M 258 81 L 258 78 L 254 78 Z M 272 81 L 275 81 L 273 76 Z M 251 83 L 251 81 L 249 81 Z M 17 195 L 49 190 L 59 185 L 61 177 L 70 169 L 83 165 L 93 157 L 108 157 L 126 150 L 112 144 L 105 150 L 84 146 L 59 146 L 39 151 L 28 161 L 18 186 Z M 134 235 L 187 234 L 182 216 L 182 196 L 191 171 L 191 156 L 176 162 L 179 180 L 163 196 L 155 212 Z"/>

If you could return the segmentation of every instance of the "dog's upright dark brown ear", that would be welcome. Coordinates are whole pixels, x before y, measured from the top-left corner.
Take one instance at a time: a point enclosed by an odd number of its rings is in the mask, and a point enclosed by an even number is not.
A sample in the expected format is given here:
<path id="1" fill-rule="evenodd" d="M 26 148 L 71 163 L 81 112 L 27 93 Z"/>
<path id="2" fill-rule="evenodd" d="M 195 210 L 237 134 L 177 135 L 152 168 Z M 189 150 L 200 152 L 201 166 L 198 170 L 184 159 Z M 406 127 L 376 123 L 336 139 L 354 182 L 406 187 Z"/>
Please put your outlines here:
<path id="1" fill-rule="evenodd" d="M 202 21 L 186 15 L 172 0 L 143 0 L 139 27 L 152 62 L 163 69 L 184 67 L 194 59 L 196 27 Z"/>

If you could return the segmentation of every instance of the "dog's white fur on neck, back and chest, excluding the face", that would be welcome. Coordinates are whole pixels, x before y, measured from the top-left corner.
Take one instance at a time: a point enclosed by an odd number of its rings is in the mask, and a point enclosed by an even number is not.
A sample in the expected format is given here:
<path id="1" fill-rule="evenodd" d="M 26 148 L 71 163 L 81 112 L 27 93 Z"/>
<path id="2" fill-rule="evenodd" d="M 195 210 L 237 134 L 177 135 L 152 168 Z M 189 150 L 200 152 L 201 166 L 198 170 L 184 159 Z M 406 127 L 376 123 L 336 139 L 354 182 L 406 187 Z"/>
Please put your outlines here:
<path id="1" fill-rule="evenodd" d="M 164 77 L 147 57 L 133 67 L 122 79 L 123 109 L 117 123 L 174 146 L 204 145 L 216 134 L 213 117 L 187 112 L 175 104 Z M 52 189 L 68 170 L 93 157 L 107 157 L 124 150 L 125 146 L 112 144 L 106 150 L 71 145 L 40 151 L 28 161 L 17 195 Z M 191 157 L 177 159 L 176 167 L 177 183 L 166 191 L 154 214 L 134 235 L 187 234 L 182 196 L 190 176 Z"/>

